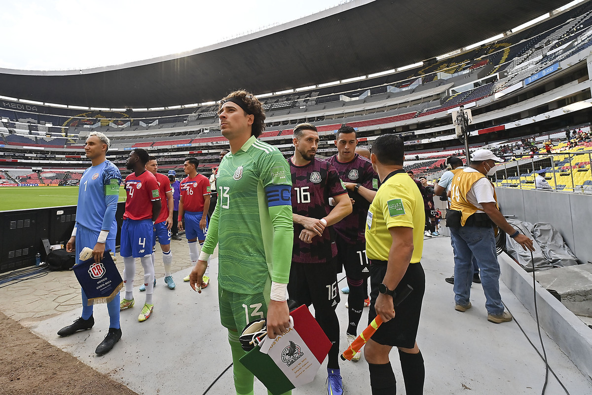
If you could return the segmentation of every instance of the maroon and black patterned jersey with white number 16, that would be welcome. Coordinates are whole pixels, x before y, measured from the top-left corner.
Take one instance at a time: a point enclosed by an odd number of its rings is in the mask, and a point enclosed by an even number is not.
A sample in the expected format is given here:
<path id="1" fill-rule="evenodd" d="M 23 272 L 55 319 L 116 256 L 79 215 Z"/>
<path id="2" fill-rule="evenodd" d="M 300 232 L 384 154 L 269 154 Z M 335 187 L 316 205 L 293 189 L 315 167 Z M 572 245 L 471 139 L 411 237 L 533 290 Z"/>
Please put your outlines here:
<path id="1" fill-rule="evenodd" d="M 292 174 L 292 213 L 321 219 L 331 211 L 329 198 L 347 193 L 339 174 L 326 160 L 314 158 L 306 166 L 296 166 L 290 159 L 288 162 Z M 310 244 L 299 238 L 303 229 L 301 224 L 294 224 L 293 262 L 324 263 L 337 255 L 332 226 Z"/>

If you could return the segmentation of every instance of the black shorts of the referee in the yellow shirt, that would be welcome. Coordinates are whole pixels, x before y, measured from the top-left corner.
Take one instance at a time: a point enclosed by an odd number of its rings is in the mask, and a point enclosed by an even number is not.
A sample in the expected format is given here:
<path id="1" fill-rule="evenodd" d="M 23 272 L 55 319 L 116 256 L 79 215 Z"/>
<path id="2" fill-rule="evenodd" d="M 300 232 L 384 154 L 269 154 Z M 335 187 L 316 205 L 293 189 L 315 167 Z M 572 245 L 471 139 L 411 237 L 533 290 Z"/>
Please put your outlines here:
<path id="1" fill-rule="evenodd" d="M 371 303 L 370 311 L 368 312 L 368 325 L 376 317 L 374 303 L 378 297 L 378 284 L 384 280 L 386 273 L 387 262 L 371 261 Z M 382 345 L 403 348 L 413 348 L 415 346 L 419 316 L 422 311 L 423 293 L 426 290 L 426 276 L 420 262 L 409 264 L 395 292 L 399 293 L 407 284 L 413 287 L 413 291 L 411 291 L 409 296 L 398 307 L 395 307 L 395 317 L 388 322 L 382 323 L 376 333 L 372 335 L 372 340 L 375 342 Z"/>

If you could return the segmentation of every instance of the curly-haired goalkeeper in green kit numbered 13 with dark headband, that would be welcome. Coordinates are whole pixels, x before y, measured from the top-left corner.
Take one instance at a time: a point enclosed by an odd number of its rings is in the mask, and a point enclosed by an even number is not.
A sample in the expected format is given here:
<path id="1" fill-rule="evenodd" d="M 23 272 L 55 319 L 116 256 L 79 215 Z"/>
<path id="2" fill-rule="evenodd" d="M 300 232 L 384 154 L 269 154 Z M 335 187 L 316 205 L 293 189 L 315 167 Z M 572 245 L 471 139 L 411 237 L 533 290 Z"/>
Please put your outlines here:
<path id="1" fill-rule="evenodd" d="M 255 96 L 232 92 L 221 100 L 218 118 L 230 152 L 218 168 L 218 200 L 189 284 L 201 292 L 208 259 L 218 245 L 220 320 L 228 329 L 236 393 L 249 395 L 254 377 L 239 361 L 246 354 L 240 333 L 258 318 L 266 318 L 270 338 L 289 328 L 292 180 L 279 150 L 257 139 L 265 129 L 265 113 Z"/>

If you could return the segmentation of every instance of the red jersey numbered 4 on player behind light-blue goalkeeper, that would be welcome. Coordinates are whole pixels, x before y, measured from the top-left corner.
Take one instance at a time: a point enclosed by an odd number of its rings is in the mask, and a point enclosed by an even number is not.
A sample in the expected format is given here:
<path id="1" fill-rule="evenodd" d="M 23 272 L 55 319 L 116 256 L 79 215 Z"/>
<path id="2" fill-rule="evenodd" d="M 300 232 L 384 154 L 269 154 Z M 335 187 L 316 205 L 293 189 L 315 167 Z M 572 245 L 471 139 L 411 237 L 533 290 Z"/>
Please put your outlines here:
<path id="1" fill-rule="evenodd" d="M 152 218 L 152 202 L 159 200 L 155 176 L 144 171 L 139 176 L 132 173 L 126 177 L 126 212 L 123 219 L 146 220 Z"/>

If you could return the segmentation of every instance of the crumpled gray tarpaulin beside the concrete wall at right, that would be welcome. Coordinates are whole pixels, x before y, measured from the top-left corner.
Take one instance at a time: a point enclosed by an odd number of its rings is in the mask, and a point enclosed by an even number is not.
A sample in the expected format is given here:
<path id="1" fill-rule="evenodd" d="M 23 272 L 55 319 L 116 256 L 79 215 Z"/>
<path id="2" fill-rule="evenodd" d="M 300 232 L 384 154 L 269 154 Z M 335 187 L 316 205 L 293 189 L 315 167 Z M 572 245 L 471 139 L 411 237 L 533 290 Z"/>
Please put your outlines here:
<path id="1" fill-rule="evenodd" d="M 533 239 L 535 251 L 532 253 L 534 267 L 537 270 L 551 269 L 578 264 L 578 259 L 565 244 L 563 237 L 551 224 L 523 222 L 509 219 L 508 222 L 520 230 L 520 233 Z M 524 251 L 522 246 L 510 236 L 506 236 L 506 252 L 516 260 L 526 271 L 532 271 L 533 262 L 530 251 Z"/>

